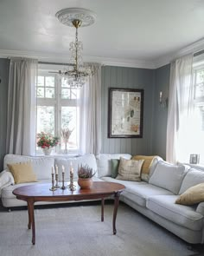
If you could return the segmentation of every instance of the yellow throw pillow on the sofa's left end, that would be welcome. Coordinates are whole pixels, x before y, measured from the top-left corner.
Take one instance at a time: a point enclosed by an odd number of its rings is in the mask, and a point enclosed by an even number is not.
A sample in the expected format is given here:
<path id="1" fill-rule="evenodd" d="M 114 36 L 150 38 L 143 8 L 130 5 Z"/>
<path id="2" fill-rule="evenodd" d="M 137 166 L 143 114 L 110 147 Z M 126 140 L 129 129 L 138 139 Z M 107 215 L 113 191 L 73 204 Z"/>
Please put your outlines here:
<path id="1" fill-rule="evenodd" d="M 8 164 L 7 166 L 10 168 L 10 173 L 13 174 L 16 184 L 37 181 L 30 162 Z"/>

